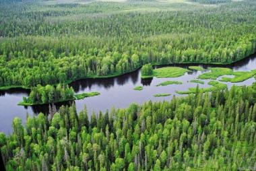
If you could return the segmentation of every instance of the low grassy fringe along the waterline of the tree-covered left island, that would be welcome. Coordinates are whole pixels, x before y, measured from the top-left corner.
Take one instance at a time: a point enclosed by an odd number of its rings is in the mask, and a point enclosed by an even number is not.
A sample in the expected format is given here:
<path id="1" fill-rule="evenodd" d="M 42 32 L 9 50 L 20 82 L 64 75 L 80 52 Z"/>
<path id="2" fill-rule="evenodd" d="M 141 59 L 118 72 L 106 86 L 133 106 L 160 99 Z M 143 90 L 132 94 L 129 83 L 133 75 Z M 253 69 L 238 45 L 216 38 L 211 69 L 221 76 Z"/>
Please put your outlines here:
<path id="1" fill-rule="evenodd" d="M 98 96 L 100 95 L 99 92 L 89 92 L 89 93 L 82 93 L 82 94 L 75 94 L 75 96 L 73 96 L 73 98 L 71 99 L 65 99 L 65 100 L 56 100 L 53 103 L 59 103 L 59 102 L 67 102 L 67 101 L 73 101 L 73 100 L 81 100 L 84 98 L 88 98 L 88 97 L 92 97 L 92 96 Z M 49 102 L 46 103 L 30 103 L 30 102 L 19 102 L 18 105 L 19 106 L 35 106 L 35 105 L 42 105 L 42 104 L 51 104 Z"/>

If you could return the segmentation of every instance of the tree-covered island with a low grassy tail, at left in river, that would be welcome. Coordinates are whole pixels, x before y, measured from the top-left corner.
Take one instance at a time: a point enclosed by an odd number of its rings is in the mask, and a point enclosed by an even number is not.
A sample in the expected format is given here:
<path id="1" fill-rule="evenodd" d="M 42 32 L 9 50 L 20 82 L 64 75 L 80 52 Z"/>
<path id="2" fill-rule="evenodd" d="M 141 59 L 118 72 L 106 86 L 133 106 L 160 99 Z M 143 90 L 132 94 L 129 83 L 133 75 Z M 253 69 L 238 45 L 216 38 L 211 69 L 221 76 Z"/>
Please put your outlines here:
<path id="1" fill-rule="evenodd" d="M 91 96 L 98 96 L 99 92 L 88 92 L 75 94 L 72 87 L 58 84 L 55 86 L 38 85 L 31 89 L 28 98 L 23 97 L 23 101 L 19 102 L 20 106 L 33 106 L 38 104 L 51 104 L 57 102 L 66 102 L 72 100 L 80 100 Z"/>

